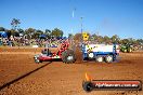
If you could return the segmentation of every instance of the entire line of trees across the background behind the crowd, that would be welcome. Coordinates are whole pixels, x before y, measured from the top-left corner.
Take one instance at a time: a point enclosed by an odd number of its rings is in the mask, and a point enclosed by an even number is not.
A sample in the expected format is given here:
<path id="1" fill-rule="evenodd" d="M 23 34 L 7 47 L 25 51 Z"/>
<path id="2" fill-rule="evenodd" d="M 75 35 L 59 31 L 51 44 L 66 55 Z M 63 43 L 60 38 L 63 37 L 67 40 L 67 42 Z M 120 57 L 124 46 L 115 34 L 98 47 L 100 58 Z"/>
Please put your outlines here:
<path id="1" fill-rule="evenodd" d="M 54 28 L 53 30 L 50 29 L 46 29 L 40 30 L 40 29 L 35 29 L 35 28 L 28 28 L 28 29 L 22 29 L 20 27 L 21 25 L 21 21 L 17 18 L 13 18 L 11 22 L 11 29 L 5 29 L 4 27 L 0 27 L 0 31 L 6 31 L 9 32 L 9 37 L 10 36 L 26 36 L 27 39 L 38 39 L 39 36 L 44 35 L 46 38 L 50 39 L 50 38 L 57 38 L 57 37 L 63 37 L 64 31 L 58 29 L 58 28 Z M 99 36 L 99 35 L 89 35 L 89 40 L 90 41 L 96 41 L 99 43 L 119 43 L 119 44 L 126 44 L 126 43 L 130 43 L 130 44 L 138 44 L 138 45 L 143 45 L 143 39 L 133 39 L 133 38 L 127 38 L 127 39 L 120 39 L 119 36 L 114 35 L 112 37 L 108 36 Z M 81 33 L 69 33 L 68 38 L 69 39 L 74 39 L 74 40 L 81 40 Z"/>

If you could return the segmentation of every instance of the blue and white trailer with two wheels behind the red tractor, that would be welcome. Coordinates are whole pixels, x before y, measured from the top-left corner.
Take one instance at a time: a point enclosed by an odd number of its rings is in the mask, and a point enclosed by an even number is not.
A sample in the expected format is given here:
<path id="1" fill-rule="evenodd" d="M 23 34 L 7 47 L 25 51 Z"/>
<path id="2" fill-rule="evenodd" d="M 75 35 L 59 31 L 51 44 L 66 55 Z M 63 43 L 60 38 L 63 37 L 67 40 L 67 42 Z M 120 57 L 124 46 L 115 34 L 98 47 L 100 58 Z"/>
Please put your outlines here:
<path id="1" fill-rule="evenodd" d="M 119 45 L 117 44 L 82 44 L 83 60 L 113 63 L 118 56 Z"/>

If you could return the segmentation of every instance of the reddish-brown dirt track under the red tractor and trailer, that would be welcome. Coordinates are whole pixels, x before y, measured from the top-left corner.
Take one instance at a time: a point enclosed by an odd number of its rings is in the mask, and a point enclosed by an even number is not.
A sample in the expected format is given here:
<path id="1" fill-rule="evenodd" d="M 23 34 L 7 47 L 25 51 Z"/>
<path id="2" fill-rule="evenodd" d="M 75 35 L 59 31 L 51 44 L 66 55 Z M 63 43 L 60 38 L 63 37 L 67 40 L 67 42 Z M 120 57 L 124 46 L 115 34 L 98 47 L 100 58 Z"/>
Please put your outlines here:
<path id="1" fill-rule="evenodd" d="M 5 50 L 6 51 L 6 50 Z M 34 54 L 38 53 L 25 49 L 14 52 L 0 53 L 0 86 L 13 79 L 24 78 L 10 83 L 0 91 L 0 95 L 143 95 L 143 91 L 93 91 L 86 93 L 82 90 L 84 72 L 95 80 L 141 80 L 143 81 L 143 52 L 120 54 L 119 63 L 98 64 L 93 62 L 76 64 L 34 63 Z M 10 54 L 9 54 L 10 53 Z M 35 70 L 38 67 L 43 68 Z"/>

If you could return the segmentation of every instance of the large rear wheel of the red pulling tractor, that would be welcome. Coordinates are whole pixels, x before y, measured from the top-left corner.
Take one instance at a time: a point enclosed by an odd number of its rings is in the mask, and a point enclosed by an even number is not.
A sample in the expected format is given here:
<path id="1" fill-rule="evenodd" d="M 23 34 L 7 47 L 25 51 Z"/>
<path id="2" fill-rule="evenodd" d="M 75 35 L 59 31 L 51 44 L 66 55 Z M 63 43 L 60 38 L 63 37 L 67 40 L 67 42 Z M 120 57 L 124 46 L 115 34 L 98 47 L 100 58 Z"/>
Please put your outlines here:
<path id="1" fill-rule="evenodd" d="M 62 60 L 65 64 L 72 64 L 76 62 L 76 56 L 73 50 L 66 50 L 62 53 Z"/>

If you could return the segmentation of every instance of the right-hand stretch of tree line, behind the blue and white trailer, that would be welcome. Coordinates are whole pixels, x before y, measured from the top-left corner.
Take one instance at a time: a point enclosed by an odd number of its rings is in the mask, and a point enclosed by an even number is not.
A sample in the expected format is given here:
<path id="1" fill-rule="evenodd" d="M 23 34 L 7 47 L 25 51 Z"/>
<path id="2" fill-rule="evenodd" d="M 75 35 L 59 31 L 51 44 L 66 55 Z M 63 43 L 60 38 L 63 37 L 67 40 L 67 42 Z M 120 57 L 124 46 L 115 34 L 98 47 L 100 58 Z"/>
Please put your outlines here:
<path id="1" fill-rule="evenodd" d="M 99 35 L 89 35 L 89 41 L 95 41 L 98 43 L 118 43 L 118 44 L 136 44 L 136 45 L 143 45 L 143 39 L 133 39 L 133 38 L 126 38 L 121 39 L 119 36 L 114 35 L 112 37 L 108 36 L 99 36 Z M 73 38 L 74 40 L 81 40 L 81 33 L 76 33 L 75 36 L 69 33 L 69 38 Z"/>

